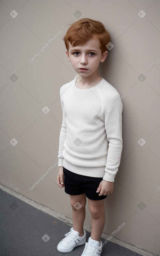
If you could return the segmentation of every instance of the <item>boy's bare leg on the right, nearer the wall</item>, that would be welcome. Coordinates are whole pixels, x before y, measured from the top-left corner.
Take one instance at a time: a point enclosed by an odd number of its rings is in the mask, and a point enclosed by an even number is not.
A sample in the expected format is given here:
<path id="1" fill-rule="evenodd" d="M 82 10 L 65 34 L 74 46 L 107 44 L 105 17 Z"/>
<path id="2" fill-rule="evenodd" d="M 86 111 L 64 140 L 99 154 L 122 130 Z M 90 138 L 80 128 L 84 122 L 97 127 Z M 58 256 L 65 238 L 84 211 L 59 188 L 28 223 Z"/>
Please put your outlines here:
<path id="1" fill-rule="evenodd" d="M 92 216 L 91 222 L 91 238 L 99 241 L 105 225 L 105 206 L 104 200 L 88 199 L 89 209 Z"/>

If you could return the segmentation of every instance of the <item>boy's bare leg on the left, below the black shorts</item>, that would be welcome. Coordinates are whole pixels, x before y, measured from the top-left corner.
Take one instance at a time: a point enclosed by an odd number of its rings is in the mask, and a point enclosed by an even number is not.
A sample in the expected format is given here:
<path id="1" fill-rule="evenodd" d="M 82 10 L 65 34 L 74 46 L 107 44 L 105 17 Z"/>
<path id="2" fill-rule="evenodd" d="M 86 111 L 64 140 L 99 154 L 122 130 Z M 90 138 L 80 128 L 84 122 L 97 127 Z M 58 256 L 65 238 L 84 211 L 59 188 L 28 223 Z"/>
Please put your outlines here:
<path id="1" fill-rule="evenodd" d="M 73 229 L 75 231 L 79 232 L 79 236 L 83 236 L 84 235 L 83 224 L 84 224 L 84 220 L 85 220 L 86 196 L 85 196 L 85 194 L 70 195 L 70 202 L 71 202 L 71 206 L 72 206 Z"/>

